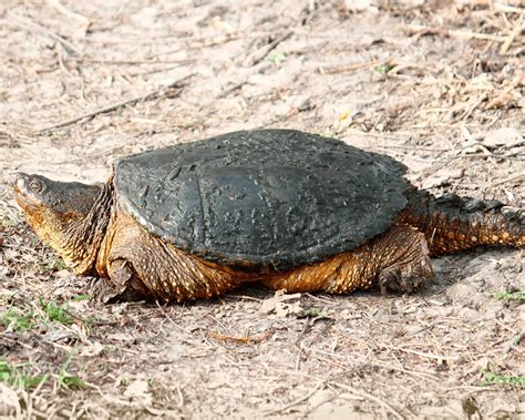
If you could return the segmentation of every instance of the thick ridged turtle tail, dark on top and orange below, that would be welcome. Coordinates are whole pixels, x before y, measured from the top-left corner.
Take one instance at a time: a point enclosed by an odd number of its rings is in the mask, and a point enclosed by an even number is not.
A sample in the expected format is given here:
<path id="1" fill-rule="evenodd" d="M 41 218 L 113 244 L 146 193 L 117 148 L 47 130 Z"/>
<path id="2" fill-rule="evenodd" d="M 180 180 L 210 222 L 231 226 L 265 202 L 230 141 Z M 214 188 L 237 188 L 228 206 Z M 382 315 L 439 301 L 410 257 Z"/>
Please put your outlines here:
<path id="1" fill-rule="evenodd" d="M 478 245 L 525 246 L 523 211 L 498 201 L 478 201 L 454 194 L 435 197 L 413 189 L 397 222 L 421 231 L 430 255 L 453 254 Z"/>

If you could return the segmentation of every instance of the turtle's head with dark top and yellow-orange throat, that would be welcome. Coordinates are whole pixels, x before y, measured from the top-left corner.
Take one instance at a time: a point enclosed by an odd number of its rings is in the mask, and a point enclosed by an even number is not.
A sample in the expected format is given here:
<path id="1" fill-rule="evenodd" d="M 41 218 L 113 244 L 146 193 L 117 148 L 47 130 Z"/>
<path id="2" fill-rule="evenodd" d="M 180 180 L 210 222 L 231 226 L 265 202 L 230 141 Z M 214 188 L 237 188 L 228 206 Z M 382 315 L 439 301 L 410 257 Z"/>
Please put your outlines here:
<path id="1" fill-rule="evenodd" d="M 100 199 L 105 185 L 56 182 L 24 173 L 16 174 L 12 184 L 17 202 L 37 235 L 76 273 L 89 273 L 100 246 L 94 239 L 103 234 L 93 232 L 101 227 L 96 218 L 109 218 L 103 214 L 109 209 Z"/>

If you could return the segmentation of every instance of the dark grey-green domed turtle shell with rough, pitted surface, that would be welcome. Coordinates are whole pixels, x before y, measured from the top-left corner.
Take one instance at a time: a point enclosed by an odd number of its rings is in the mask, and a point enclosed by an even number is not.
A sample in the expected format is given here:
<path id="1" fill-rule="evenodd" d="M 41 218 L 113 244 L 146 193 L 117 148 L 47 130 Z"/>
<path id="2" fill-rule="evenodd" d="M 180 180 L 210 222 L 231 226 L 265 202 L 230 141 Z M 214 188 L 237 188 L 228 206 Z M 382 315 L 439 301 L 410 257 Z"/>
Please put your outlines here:
<path id="1" fill-rule="evenodd" d="M 115 163 L 122 208 L 204 259 L 260 273 L 313 264 L 387 231 L 406 167 L 316 134 L 239 131 Z"/>

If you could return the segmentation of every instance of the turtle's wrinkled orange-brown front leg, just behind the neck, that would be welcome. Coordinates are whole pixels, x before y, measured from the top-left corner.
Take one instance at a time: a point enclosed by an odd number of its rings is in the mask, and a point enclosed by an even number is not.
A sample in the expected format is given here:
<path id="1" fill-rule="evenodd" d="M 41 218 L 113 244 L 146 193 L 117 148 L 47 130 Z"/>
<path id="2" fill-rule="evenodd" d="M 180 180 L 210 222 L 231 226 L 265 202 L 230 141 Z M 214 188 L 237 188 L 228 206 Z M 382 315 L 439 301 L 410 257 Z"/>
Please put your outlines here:
<path id="1" fill-rule="evenodd" d="M 124 299 L 135 294 L 181 303 L 218 296 L 241 280 L 227 267 L 165 244 L 124 213 L 116 212 L 110 231 L 96 269 L 101 277 L 110 278 L 105 287 L 111 284 L 114 297 Z"/>

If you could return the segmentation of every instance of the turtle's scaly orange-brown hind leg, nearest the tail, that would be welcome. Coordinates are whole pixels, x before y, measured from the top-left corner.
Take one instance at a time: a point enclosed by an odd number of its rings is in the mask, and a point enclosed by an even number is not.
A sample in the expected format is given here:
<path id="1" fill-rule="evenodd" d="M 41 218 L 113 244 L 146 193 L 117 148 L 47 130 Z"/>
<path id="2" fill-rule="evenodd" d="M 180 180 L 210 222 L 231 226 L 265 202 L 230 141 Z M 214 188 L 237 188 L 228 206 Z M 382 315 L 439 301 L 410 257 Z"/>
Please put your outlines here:
<path id="1" fill-rule="evenodd" d="M 287 291 L 349 294 L 379 286 L 411 293 L 432 276 L 424 235 L 405 225 L 393 226 L 359 248 L 322 263 L 264 279 L 266 287 Z"/>

